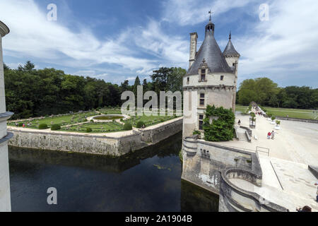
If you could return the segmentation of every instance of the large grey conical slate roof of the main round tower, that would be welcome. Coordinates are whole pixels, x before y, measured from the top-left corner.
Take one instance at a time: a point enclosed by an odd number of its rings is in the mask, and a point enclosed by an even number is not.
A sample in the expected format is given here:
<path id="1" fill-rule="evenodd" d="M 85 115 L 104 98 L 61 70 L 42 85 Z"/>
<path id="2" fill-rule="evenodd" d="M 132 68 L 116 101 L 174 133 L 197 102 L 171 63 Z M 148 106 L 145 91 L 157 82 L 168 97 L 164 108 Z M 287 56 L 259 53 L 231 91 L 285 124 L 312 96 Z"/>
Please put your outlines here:
<path id="1" fill-rule="evenodd" d="M 196 54 L 196 59 L 189 68 L 187 75 L 195 75 L 199 73 L 202 61 L 206 62 L 210 72 L 226 72 L 233 73 L 225 60 L 218 43 L 214 38 L 214 24 L 211 21 L 206 25 L 206 37 L 199 51 Z"/>

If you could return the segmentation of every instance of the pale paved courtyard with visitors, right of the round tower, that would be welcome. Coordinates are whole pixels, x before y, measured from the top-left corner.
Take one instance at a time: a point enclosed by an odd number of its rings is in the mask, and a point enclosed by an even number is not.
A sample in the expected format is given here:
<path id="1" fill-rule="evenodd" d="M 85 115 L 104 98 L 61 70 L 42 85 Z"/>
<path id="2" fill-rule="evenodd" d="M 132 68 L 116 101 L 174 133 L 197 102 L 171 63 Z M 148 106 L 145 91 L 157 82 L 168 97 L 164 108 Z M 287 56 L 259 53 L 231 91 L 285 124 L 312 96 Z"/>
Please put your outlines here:
<path id="1" fill-rule="evenodd" d="M 237 115 L 236 123 L 239 119 L 241 126 L 249 127 L 249 116 Z M 318 166 L 318 124 L 281 120 L 281 129 L 275 130 L 274 127 L 266 118 L 257 116 L 251 143 L 221 142 L 250 151 L 255 151 L 257 146 L 269 148 L 269 156 L 259 153 L 263 172 L 261 187 L 242 179 L 231 179 L 231 182 L 290 211 L 310 206 L 312 211 L 317 212 L 317 186 L 314 183 L 318 179 L 309 171 L 308 165 Z M 273 130 L 276 132 L 274 139 L 267 139 L 266 134 Z"/>

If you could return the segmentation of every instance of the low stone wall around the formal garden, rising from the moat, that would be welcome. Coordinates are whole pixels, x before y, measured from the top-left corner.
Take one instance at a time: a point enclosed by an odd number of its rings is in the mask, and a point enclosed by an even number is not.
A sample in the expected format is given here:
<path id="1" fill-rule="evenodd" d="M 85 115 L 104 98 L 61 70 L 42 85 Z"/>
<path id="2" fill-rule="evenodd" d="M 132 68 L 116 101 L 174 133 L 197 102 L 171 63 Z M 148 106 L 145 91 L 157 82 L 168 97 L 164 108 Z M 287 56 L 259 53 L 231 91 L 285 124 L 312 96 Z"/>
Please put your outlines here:
<path id="1" fill-rule="evenodd" d="M 165 138 L 182 131 L 182 118 L 151 126 L 148 129 L 139 129 L 128 136 L 118 137 L 18 129 L 10 131 L 14 136 L 9 145 L 16 147 L 121 156 L 163 141 Z"/>

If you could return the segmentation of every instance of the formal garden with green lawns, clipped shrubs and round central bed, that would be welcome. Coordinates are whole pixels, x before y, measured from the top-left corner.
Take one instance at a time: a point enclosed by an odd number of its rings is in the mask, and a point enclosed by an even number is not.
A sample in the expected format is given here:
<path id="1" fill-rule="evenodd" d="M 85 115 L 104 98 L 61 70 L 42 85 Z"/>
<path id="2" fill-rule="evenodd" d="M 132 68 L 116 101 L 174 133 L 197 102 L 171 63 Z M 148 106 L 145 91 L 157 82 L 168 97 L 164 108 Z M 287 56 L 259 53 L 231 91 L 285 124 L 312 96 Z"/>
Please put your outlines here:
<path id="1" fill-rule="evenodd" d="M 129 131 L 135 128 L 146 128 L 155 124 L 160 124 L 177 116 L 131 116 L 129 119 L 122 117 L 112 117 L 108 115 L 122 114 L 120 108 L 108 107 L 88 112 L 76 112 L 63 115 L 51 115 L 33 119 L 23 119 L 8 121 L 8 126 L 17 126 L 27 129 L 50 129 L 52 131 L 71 131 L 78 133 L 112 133 L 118 131 Z M 95 117 L 96 116 L 96 117 Z M 107 121 L 94 121 L 91 119 L 100 119 Z"/>

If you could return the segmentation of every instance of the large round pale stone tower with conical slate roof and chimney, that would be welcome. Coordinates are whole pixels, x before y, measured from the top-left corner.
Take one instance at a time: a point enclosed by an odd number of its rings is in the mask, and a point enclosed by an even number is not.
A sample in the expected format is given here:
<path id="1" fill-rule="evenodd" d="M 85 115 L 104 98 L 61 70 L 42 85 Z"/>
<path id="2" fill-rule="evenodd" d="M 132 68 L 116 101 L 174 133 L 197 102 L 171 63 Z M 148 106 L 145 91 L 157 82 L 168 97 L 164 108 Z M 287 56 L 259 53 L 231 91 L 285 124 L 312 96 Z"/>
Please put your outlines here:
<path id="1" fill-rule="evenodd" d="M 184 122 L 183 138 L 202 131 L 207 105 L 235 107 L 236 71 L 230 67 L 214 38 L 211 18 L 206 25 L 204 42 L 196 54 L 190 52 L 190 64 L 183 78 Z M 196 33 L 191 33 L 190 49 L 196 49 Z M 194 40 L 194 42 L 192 42 Z M 195 46 L 194 46 L 195 45 Z M 234 47 L 233 47 L 234 49 Z M 194 59 L 193 59 L 194 57 Z M 229 59 L 230 60 L 230 59 Z M 230 62 L 230 61 L 229 61 Z M 233 105 L 234 103 L 234 105 Z"/>

